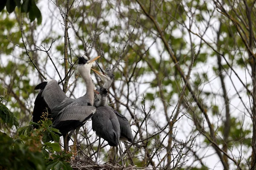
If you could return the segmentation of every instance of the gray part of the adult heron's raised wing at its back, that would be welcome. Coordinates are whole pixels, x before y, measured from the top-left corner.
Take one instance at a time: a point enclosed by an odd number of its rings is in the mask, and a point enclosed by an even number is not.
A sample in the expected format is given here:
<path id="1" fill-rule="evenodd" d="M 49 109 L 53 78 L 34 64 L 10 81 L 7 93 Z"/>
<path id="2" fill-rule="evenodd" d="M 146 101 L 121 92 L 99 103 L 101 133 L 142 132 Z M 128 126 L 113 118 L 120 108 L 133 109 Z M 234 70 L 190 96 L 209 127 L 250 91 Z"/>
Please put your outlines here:
<path id="1" fill-rule="evenodd" d="M 55 79 L 47 80 L 47 85 L 44 88 L 42 96 L 45 102 L 51 110 L 53 110 L 57 105 L 59 105 L 65 98 L 66 94 L 61 90 L 58 82 Z"/>

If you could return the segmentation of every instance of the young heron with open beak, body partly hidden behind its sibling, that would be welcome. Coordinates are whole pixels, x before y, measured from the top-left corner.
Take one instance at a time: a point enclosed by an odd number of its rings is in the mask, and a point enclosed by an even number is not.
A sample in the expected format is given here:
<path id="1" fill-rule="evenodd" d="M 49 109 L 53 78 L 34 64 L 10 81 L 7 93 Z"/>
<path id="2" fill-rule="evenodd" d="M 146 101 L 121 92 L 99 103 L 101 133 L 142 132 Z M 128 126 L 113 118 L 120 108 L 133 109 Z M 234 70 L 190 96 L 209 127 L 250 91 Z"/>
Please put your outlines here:
<path id="1" fill-rule="evenodd" d="M 99 64 L 98 64 L 98 66 L 99 66 Z M 100 79 L 102 79 L 104 84 L 100 88 L 96 89 L 96 91 L 99 91 L 99 93 L 94 94 L 94 95 L 96 95 L 96 96 L 94 96 L 94 102 L 95 102 L 94 105 L 96 107 L 105 106 L 106 110 L 102 111 L 102 112 L 111 110 L 113 113 L 115 113 L 116 117 L 118 119 L 119 125 L 120 125 L 119 140 L 128 141 L 128 142 L 133 143 L 134 136 L 132 134 L 131 126 L 129 124 L 128 119 L 125 116 L 123 116 L 121 113 L 116 111 L 115 109 L 111 108 L 111 106 L 106 105 L 107 95 L 102 95 L 102 94 L 104 94 L 104 93 L 102 93 L 102 91 L 104 91 L 104 89 L 108 89 L 111 86 L 113 79 L 114 79 L 114 74 L 110 68 L 106 68 L 105 70 L 103 70 L 100 66 L 99 66 L 99 68 L 102 73 L 100 73 L 99 71 L 97 71 L 93 68 L 92 68 L 92 70 L 100 77 Z M 133 143 L 133 144 L 136 147 L 140 148 L 140 146 L 137 143 Z"/>

